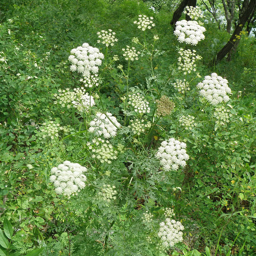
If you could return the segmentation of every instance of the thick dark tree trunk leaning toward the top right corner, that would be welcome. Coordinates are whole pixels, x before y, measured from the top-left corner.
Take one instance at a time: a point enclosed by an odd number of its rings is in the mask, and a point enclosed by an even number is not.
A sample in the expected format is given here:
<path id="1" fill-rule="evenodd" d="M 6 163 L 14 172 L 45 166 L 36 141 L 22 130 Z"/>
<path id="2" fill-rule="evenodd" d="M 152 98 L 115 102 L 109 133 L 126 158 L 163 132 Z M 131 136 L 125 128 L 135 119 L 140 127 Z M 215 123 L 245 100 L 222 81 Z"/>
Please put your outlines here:
<path id="1" fill-rule="evenodd" d="M 241 36 L 240 32 L 243 30 L 245 23 L 250 18 L 252 11 L 255 11 L 255 6 L 256 0 L 244 0 L 234 33 L 230 37 L 228 43 L 220 50 L 220 52 L 218 52 L 216 58 L 212 60 L 212 65 L 222 60 L 234 47 L 237 47 L 239 43 L 239 36 Z"/>

